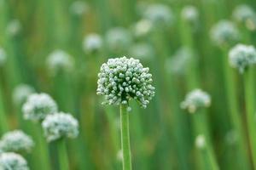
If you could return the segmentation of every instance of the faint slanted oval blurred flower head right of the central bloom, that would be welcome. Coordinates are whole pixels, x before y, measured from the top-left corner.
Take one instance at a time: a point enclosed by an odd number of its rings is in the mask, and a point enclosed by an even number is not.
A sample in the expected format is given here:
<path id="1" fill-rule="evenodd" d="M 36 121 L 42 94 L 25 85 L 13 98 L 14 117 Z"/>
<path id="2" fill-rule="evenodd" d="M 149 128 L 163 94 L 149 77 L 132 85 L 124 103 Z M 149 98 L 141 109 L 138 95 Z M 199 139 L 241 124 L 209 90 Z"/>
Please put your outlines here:
<path id="1" fill-rule="evenodd" d="M 177 76 L 183 76 L 193 58 L 195 59 L 195 54 L 190 48 L 179 48 L 172 58 L 166 60 L 166 71 Z"/>

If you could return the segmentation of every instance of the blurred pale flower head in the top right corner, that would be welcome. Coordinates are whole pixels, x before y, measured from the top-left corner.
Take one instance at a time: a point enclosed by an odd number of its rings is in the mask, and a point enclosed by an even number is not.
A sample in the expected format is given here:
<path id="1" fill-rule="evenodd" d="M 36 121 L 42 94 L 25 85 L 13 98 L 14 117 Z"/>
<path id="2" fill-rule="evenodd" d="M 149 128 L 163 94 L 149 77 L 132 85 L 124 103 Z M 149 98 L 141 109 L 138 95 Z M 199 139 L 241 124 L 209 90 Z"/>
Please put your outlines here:
<path id="1" fill-rule="evenodd" d="M 250 6 L 241 4 L 234 9 L 232 15 L 236 22 L 247 26 L 247 29 L 256 29 L 256 13 Z"/>

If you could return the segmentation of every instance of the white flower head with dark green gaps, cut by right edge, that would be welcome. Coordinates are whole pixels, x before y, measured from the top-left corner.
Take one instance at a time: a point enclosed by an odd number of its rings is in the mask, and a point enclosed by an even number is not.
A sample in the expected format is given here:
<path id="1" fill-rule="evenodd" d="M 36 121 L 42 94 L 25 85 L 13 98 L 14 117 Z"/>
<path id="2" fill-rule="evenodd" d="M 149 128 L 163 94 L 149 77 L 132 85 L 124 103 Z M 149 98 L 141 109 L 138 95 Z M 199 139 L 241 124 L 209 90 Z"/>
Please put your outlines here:
<path id="1" fill-rule="evenodd" d="M 256 50 L 252 45 L 237 44 L 230 49 L 230 65 L 243 73 L 247 67 L 256 63 Z"/>

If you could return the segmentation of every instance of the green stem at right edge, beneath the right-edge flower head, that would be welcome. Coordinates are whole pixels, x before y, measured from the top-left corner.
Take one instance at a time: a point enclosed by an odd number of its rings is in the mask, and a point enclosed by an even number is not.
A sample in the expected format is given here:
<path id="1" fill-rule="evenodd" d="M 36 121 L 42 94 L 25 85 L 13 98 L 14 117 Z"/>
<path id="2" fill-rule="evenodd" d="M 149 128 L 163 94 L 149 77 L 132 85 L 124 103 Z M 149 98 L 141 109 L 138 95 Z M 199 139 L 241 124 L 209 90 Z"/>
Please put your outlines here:
<path id="1" fill-rule="evenodd" d="M 250 68 L 244 75 L 245 101 L 247 111 L 247 130 L 249 134 L 251 154 L 253 158 L 253 167 L 256 168 L 256 123 L 255 123 L 255 98 L 254 98 L 254 73 Z"/>

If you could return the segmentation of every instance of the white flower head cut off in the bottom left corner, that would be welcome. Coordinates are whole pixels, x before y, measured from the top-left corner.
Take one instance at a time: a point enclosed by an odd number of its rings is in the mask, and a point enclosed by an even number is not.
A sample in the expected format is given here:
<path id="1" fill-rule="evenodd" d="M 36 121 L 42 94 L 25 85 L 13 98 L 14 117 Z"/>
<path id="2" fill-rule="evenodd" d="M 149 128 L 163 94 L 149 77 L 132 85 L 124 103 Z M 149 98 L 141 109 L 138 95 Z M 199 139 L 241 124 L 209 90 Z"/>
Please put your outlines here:
<path id="1" fill-rule="evenodd" d="M 1 170 L 29 170 L 26 160 L 13 152 L 0 154 Z"/>

